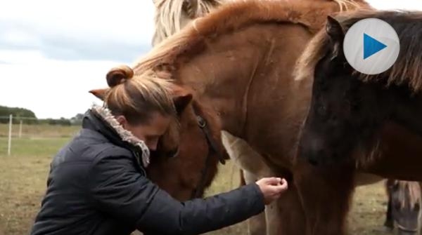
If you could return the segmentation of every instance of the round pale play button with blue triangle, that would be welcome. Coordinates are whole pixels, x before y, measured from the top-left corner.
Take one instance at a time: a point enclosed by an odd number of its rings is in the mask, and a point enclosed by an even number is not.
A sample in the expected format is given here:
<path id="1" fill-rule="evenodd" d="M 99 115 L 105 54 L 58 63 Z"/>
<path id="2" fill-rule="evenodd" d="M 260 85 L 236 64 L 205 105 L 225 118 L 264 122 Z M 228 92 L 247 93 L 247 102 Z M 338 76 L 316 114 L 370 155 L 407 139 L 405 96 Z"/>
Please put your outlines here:
<path id="1" fill-rule="evenodd" d="M 366 18 L 354 23 L 343 42 L 345 58 L 363 74 L 380 74 L 399 56 L 399 37 L 387 22 Z"/>

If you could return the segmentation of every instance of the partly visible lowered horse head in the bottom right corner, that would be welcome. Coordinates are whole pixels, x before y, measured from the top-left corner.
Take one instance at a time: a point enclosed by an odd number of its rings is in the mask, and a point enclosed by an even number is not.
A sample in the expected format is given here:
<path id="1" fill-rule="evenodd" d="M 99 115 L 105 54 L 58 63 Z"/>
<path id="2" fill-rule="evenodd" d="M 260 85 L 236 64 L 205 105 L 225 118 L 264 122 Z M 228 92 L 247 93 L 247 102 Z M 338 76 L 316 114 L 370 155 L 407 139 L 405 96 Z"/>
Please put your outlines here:
<path id="1" fill-rule="evenodd" d="M 391 217 L 398 234 L 419 234 L 421 223 L 421 187 L 419 182 L 388 180 Z"/>

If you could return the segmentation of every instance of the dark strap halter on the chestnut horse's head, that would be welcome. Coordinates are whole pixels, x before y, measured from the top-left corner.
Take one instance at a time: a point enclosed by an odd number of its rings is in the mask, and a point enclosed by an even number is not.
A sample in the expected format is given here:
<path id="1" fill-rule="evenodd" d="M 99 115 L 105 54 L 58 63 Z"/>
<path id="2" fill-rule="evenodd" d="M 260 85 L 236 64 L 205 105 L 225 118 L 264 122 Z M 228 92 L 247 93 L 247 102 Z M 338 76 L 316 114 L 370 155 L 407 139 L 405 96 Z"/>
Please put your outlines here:
<path id="1" fill-rule="evenodd" d="M 201 170 L 202 175 L 200 177 L 200 180 L 199 180 L 198 184 L 196 185 L 195 189 L 193 189 L 193 192 L 191 194 L 191 199 L 198 198 L 200 196 L 200 192 L 203 192 L 203 190 L 204 190 L 205 180 L 206 180 L 207 173 L 208 173 L 208 170 L 209 170 L 208 168 L 210 166 L 210 160 L 211 160 L 212 153 L 217 154 L 217 157 L 218 157 L 220 163 L 222 163 L 223 165 L 226 163 L 226 160 L 224 159 L 222 153 L 218 151 L 218 148 L 217 148 L 217 145 L 215 144 L 215 141 L 212 140 L 212 136 L 210 134 L 210 129 L 207 127 L 207 121 L 205 121 L 205 119 L 198 114 L 196 114 L 196 120 L 198 121 L 199 128 L 203 131 L 203 133 L 205 135 L 205 139 L 207 139 L 208 155 L 207 155 L 207 158 L 205 159 L 204 167 Z"/>

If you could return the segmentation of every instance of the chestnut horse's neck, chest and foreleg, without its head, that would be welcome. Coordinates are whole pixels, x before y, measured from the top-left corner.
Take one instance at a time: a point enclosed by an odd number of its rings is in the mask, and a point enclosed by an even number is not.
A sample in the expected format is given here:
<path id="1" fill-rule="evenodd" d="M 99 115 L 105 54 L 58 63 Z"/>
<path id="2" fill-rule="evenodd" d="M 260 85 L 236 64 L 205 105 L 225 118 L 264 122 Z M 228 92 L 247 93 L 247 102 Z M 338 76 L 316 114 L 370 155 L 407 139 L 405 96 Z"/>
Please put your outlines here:
<path id="1" fill-rule="evenodd" d="M 305 234 L 307 227 L 316 228 L 316 234 L 343 231 L 345 208 L 324 202 L 338 215 L 322 218 L 329 226 L 315 226 L 319 220 L 305 220 L 300 201 L 305 196 L 299 196 L 291 184 L 295 143 L 310 97 L 310 83 L 293 81 L 291 71 L 305 44 L 324 26 L 326 15 L 340 11 L 340 6 L 352 9 L 366 4 L 322 0 L 224 4 L 134 65 L 135 74 L 153 71 L 192 90 L 193 104 L 209 109 L 221 130 L 245 140 L 271 175 L 290 180 L 290 189 L 276 205 L 279 224 L 271 226 L 271 234 Z M 307 211 L 307 215 L 314 213 L 320 212 Z"/>

